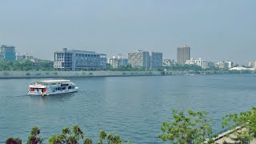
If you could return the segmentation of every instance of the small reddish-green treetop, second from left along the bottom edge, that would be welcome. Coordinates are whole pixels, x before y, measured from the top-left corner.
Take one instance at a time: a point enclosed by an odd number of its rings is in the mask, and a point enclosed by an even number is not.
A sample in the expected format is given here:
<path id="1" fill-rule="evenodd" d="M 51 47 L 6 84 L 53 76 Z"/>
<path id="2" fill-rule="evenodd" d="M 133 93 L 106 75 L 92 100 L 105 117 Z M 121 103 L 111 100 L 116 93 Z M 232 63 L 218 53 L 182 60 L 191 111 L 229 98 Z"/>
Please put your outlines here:
<path id="1" fill-rule="evenodd" d="M 43 138 L 40 137 L 40 130 L 37 126 L 32 127 L 30 131 L 30 136 L 27 140 L 27 144 L 40 144 L 43 141 Z"/>

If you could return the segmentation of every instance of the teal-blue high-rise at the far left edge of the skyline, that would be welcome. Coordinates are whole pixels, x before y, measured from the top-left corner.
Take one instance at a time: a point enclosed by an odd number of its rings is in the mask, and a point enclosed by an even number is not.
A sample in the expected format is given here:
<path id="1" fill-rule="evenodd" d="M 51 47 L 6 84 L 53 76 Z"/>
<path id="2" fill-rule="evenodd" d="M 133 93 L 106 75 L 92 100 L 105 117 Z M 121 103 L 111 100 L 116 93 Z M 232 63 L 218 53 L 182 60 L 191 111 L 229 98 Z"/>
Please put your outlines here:
<path id="1" fill-rule="evenodd" d="M 0 56 L 2 59 L 10 62 L 14 62 L 16 59 L 15 56 L 15 47 L 2 45 L 0 48 Z"/>

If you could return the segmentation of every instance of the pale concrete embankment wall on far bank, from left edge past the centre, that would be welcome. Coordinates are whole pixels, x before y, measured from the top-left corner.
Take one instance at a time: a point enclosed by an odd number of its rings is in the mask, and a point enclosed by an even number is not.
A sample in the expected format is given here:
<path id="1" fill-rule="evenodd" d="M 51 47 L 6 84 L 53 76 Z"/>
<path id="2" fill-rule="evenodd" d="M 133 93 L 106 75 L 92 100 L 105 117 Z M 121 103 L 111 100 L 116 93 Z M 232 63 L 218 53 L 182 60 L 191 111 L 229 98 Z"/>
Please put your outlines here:
<path id="1" fill-rule="evenodd" d="M 161 71 L 0 71 L 0 78 L 68 78 L 162 75 Z"/>

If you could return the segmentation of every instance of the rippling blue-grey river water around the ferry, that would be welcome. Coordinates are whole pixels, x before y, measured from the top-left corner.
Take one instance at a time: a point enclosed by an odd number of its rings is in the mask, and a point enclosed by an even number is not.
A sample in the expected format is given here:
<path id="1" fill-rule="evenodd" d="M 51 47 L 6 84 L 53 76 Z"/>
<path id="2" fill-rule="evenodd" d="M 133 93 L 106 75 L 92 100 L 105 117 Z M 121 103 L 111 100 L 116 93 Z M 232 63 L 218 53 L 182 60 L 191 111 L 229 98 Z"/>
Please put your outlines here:
<path id="1" fill-rule="evenodd" d="M 216 132 L 223 115 L 250 110 L 256 102 L 254 74 L 71 78 L 78 93 L 43 98 L 26 95 L 33 80 L 0 79 L 1 143 L 8 137 L 26 142 L 32 126 L 49 138 L 74 124 L 94 142 L 106 130 L 132 143 L 162 143 L 157 136 L 172 109 L 209 111 Z"/>

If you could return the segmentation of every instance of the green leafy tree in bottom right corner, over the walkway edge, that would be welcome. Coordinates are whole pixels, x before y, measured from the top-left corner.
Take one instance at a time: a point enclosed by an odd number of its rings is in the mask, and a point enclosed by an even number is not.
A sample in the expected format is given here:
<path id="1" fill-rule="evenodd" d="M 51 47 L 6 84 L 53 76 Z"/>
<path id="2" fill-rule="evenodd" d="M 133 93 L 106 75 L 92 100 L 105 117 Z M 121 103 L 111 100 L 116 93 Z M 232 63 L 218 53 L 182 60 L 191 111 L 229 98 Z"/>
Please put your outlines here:
<path id="1" fill-rule="evenodd" d="M 230 137 L 234 143 L 250 143 L 256 138 L 256 107 L 240 114 L 227 114 L 224 116 L 222 127 L 235 130 Z"/>

